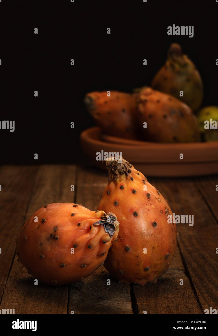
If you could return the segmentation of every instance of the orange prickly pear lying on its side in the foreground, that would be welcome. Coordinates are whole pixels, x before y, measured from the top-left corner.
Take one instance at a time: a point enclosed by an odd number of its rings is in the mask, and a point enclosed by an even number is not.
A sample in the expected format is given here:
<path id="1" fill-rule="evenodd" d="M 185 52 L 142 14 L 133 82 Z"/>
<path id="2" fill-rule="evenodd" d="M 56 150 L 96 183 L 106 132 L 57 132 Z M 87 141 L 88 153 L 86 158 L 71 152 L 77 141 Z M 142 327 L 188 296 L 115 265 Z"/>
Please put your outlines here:
<path id="1" fill-rule="evenodd" d="M 45 284 L 82 280 L 104 262 L 118 227 L 111 212 L 90 211 L 74 203 L 45 205 L 24 223 L 18 235 L 18 261 Z"/>

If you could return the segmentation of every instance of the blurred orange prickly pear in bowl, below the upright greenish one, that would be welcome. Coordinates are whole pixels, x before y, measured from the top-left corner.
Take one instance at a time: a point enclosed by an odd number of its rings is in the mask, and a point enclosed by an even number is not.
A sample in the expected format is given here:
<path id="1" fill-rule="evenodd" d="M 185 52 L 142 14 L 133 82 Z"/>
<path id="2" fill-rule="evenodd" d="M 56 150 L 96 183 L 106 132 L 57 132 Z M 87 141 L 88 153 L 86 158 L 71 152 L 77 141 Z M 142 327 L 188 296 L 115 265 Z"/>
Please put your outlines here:
<path id="1" fill-rule="evenodd" d="M 196 142 L 200 132 L 196 117 L 182 101 L 168 94 L 143 88 L 137 97 L 138 119 L 144 139 L 156 142 Z"/>

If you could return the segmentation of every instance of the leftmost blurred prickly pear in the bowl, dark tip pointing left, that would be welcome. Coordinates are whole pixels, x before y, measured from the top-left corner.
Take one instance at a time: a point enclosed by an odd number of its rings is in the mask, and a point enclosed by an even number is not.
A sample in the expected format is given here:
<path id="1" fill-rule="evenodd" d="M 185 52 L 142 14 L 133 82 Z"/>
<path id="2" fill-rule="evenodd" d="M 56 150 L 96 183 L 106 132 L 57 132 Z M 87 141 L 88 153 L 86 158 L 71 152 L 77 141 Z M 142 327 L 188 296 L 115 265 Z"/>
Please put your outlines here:
<path id="1" fill-rule="evenodd" d="M 135 98 L 132 94 L 118 91 L 87 93 L 85 106 L 103 133 L 121 137 L 136 138 Z"/>

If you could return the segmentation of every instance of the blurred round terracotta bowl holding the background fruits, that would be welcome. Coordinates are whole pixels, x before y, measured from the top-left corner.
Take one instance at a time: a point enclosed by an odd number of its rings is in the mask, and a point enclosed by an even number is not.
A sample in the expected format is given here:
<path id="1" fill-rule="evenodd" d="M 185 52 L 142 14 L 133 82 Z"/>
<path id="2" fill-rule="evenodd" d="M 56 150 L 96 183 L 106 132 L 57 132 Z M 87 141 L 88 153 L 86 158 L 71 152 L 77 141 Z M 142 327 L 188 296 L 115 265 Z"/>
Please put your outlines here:
<path id="1" fill-rule="evenodd" d="M 96 153 L 122 152 L 125 160 L 145 176 L 200 176 L 218 173 L 218 141 L 158 143 L 117 138 L 101 134 L 99 127 L 81 133 L 83 151 L 97 167 Z M 180 160 L 183 154 L 183 160 Z"/>

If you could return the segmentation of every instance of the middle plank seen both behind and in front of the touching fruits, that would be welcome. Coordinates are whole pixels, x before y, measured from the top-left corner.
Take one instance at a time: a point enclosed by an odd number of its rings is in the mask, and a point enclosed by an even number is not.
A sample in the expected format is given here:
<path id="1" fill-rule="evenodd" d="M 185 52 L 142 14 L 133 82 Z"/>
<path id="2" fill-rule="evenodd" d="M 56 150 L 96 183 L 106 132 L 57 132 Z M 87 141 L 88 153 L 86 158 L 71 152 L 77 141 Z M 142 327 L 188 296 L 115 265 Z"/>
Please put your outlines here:
<path id="1" fill-rule="evenodd" d="M 95 210 L 107 184 L 107 173 L 79 169 L 76 203 Z M 107 285 L 107 280 L 111 284 Z M 70 285 L 69 314 L 132 314 L 130 286 L 113 280 L 99 267 L 90 277 Z"/>

